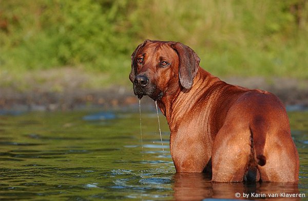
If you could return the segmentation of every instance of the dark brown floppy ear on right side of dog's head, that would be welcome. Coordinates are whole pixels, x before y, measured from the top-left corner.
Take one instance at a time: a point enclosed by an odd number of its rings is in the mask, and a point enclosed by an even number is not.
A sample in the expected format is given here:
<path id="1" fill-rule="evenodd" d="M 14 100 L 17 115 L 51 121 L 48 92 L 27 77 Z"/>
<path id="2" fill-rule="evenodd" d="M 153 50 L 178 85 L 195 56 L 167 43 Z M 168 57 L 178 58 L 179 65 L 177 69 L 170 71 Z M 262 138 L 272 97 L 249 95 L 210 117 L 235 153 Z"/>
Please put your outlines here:
<path id="1" fill-rule="evenodd" d="M 172 44 L 171 47 L 177 51 L 179 56 L 179 78 L 181 85 L 190 89 L 197 74 L 200 58 L 190 47 L 182 43 Z"/>

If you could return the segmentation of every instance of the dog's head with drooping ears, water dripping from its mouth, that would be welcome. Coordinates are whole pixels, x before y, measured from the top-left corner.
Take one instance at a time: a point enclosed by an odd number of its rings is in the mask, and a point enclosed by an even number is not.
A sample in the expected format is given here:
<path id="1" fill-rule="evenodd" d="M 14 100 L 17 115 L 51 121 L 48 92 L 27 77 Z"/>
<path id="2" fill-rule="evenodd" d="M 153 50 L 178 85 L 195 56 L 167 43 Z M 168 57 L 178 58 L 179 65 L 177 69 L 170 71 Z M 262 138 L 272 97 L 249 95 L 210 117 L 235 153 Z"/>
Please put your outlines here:
<path id="1" fill-rule="evenodd" d="M 194 50 L 182 43 L 146 40 L 131 55 L 134 94 L 159 100 L 179 87 L 190 89 L 199 63 Z"/>

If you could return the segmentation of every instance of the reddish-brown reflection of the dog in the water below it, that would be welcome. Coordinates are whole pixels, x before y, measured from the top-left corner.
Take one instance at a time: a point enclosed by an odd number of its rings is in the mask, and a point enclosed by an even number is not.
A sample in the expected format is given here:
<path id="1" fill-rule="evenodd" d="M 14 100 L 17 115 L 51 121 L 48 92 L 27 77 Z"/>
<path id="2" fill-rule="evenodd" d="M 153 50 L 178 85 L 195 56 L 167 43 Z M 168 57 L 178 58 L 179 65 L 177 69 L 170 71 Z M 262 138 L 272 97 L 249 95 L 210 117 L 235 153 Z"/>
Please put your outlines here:
<path id="1" fill-rule="evenodd" d="M 239 199 L 246 196 L 248 199 L 268 200 L 276 196 L 275 200 L 285 200 L 290 194 L 300 193 L 297 183 L 215 183 L 204 173 L 176 173 L 174 181 L 176 200 L 201 200 L 207 197 L 234 199 L 237 198 L 236 193 L 239 193 Z M 288 197 L 287 200 L 300 200 L 300 197 Z"/>

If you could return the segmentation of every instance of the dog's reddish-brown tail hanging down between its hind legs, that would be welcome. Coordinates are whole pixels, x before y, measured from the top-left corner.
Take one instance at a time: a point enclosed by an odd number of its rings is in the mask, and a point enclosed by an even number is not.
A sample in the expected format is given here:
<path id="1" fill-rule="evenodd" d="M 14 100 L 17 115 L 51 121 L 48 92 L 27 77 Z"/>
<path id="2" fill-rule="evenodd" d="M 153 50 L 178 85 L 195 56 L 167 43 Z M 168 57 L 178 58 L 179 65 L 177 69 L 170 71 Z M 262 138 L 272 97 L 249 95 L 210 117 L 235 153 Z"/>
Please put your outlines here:
<path id="1" fill-rule="evenodd" d="M 264 123 L 264 122 L 263 122 Z M 251 149 L 254 154 L 255 161 L 259 166 L 264 166 L 266 163 L 266 157 L 263 155 L 264 145 L 266 139 L 266 132 L 262 121 L 254 121 L 254 124 L 249 126 L 251 131 Z"/>

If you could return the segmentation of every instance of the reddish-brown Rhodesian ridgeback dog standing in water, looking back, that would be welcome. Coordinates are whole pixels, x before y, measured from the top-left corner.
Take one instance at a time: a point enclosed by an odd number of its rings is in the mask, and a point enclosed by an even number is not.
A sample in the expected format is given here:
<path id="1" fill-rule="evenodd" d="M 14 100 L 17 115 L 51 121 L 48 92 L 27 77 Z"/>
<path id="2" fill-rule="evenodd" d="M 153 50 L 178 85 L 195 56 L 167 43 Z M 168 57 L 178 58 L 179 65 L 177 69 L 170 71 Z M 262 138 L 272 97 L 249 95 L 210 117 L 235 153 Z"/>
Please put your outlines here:
<path id="1" fill-rule="evenodd" d="M 134 94 L 157 101 L 170 129 L 177 172 L 212 171 L 212 181 L 296 182 L 299 157 L 281 101 L 227 84 L 182 43 L 150 41 L 131 56 Z"/>

